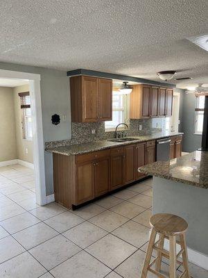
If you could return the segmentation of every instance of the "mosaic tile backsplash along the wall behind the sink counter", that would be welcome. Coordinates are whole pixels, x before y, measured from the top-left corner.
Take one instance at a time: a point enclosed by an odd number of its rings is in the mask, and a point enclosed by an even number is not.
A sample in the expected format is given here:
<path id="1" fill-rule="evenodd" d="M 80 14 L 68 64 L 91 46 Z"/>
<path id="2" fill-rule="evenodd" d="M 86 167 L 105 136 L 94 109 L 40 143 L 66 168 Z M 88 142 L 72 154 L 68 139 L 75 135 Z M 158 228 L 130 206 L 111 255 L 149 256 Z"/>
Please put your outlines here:
<path id="1" fill-rule="evenodd" d="M 154 119 L 130 120 L 129 129 L 125 132 L 126 136 L 145 135 L 157 131 L 169 129 L 169 119 L 166 117 Z M 142 125 L 142 130 L 139 131 L 139 125 Z M 92 133 L 92 130 L 95 133 Z M 119 131 L 121 132 L 121 131 Z M 71 123 L 71 139 L 56 142 L 46 142 L 46 148 L 59 147 L 63 145 L 74 145 L 85 142 L 93 142 L 98 140 L 106 140 L 114 138 L 114 131 L 105 131 L 105 122 L 92 123 Z"/>

